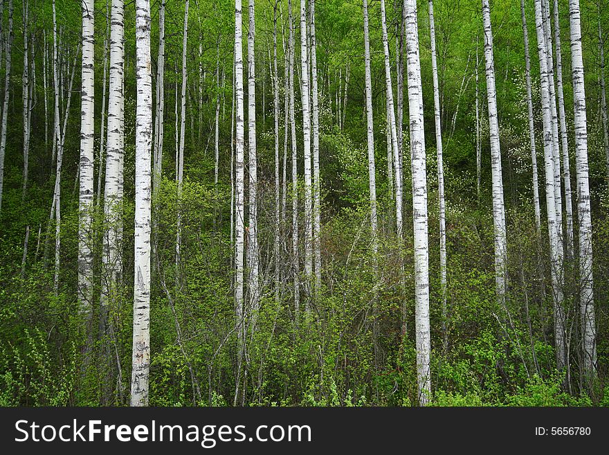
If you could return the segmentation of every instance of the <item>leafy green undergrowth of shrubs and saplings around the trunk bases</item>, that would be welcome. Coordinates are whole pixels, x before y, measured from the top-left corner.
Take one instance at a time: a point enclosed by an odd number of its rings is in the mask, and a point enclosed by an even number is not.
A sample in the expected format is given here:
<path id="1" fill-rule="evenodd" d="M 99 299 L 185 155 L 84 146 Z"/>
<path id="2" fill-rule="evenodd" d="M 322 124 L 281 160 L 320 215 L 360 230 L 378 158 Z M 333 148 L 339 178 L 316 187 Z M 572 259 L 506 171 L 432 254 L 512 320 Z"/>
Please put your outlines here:
<path id="1" fill-rule="evenodd" d="M 128 103 L 127 103 L 128 105 Z M 127 122 L 131 116 L 125 116 Z M 163 179 L 154 200 L 153 283 L 151 301 L 150 404 L 189 405 L 411 405 L 417 403 L 414 334 L 414 265 L 408 161 L 405 161 L 405 240 L 398 242 L 394 208 L 379 200 L 379 253 L 370 249 L 365 150 L 350 136 L 361 135 L 363 120 L 354 116 L 344 131 L 322 128 L 322 289 L 309 295 L 301 276 L 301 312 L 293 307 L 291 216 L 281 226 L 282 285 L 280 302 L 273 283 L 274 181 L 273 139 L 259 141 L 259 237 L 262 298 L 255 324 L 248 325 L 243 371 L 237 372 L 237 335 L 231 287 L 230 180 L 213 186 L 213 157 L 187 145 L 188 177 L 180 201 L 181 260 L 176 265 L 176 185 Z M 132 120 L 131 120 L 132 121 Z M 269 123 L 271 120 L 269 119 Z M 381 122 L 382 123 L 382 122 Z M 128 126 L 128 125 L 127 125 Z M 268 125 L 271 127 L 271 125 Z M 527 131 L 502 130 L 505 143 L 523 144 Z M 594 128 L 591 129 L 594 132 Z M 129 127 L 127 127 L 127 131 Z M 457 132 L 453 157 L 471 154 L 471 132 Z M 379 129 L 377 137 L 384 137 Z M 590 154 L 601 154 L 591 135 Z M 488 140 L 487 138 L 483 138 Z M 39 139 L 34 138 L 34 141 Z M 78 152 L 78 132 L 68 137 L 66 154 Z M 228 138 L 223 138 L 228 147 Z M 96 211 L 93 250 L 100 258 L 102 232 L 122 232 L 122 276 L 107 305 L 96 300 L 89 339 L 76 298 L 78 194 L 64 179 L 62 194 L 62 277 L 53 290 L 55 242 L 48 229 L 51 181 L 32 182 L 40 197 L 21 203 L 20 172 L 7 163 L 6 194 L 0 236 L 0 404 L 125 405 L 129 400 L 133 283 L 134 182 L 133 137 L 125 138 L 125 203 L 120 226 L 103 226 Z M 405 141 L 407 144 L 408 141 Z M 41 147 L 44 145 L 38 144 Z M 74 145 L 74 147 L 72 147 Z M 37 145 L 35 144 L 35 147 Z M 458 150 L 458 149 L 462 150 Z M 383 169 L 385 144 L 377 145 Z M 442 314 L 439 295 L 439 233 L 435 188 L 435 152 L 428 150 L 430 212 L 430 319 L 432 384 L 435 405 L 590 405 L 609 404 L 606 386 L 606 291 L 609 289 L 609 221 L 594 210 L 594 287 L 599 327 L 598 364 L 593 384 L 580 374 L 579 310 L 576 271 L 565 273 L 565 312 L 569 335 L 568 368 L 556 371 L 553 348 L 552 296 L 547 233 L 539 238 L 527 188 L 527 172 L 505 162 L 508 220 L 509 288 L 505 307 L 496 300 L 493 275 L 493 223 L 490 176 L 482 175 L 480 201 L 475 196 L 475 167 L 457 169 L 446 162 L 448 195 L 448 308 Z M 512 152 L 517 153 L 517 152 Z M 229 155 L 230 156 L 230 155 Z M 404 157 L 408 157 L 405 150 Z M 512 157 L 513 158 L 513 157 Z M 406 159 L 406 158 L 405 158 Z M 485 159 L 488 159 L 485 157 Z M 599 159 L 599 161 L 601 161 Z M 68 161 L 70 162 L 70 161 Z M 602 161 L 601 161 L 602 162 Z M 229 165 L 228 159 L 221 166 Z M 171 169 L 171 166 L 167 166 Z M 386 168 L 386 163 L 385 163 Z M 489 166 L 483 166 L 488 170 Z M 39 172 L 48 172 L 44 167 Z M 379 172 L 379 194 L 388 195 Z M 488 172 L 489 174 L 490 172 Z M 602 186 L 602 182 L 593 182 Z M 383 190 L 383 185 L 385 186 Z M 290 190 L 290 187 L 289 187 Z M 302 195 L 302 188 L 300 188 Z M 597 195 L 598 196 L 598 195 Z M 288 194 L 287 206 L 291 207 Z M 302 217 L 302 211 L 300 211 Z M 301 223 L 303 220 L 300 220 Z M 24 232 L 31 229 L 29 252 L 22 267 Z M 37 228 L 41 227 L 38 236 Z M 576 224 L 577 225 L 577 224 Z M 52 228 L 54 229 L 54 224 Z M 49 240 L 51 239 L 51 240 Z M 302 246 L 301 246 L 302 247 Z M 301 252 L 302 255 L 302 252 Z M 302 258 L 302 256 L 301 256 Z M 302 260 L 302 259 L 301 259 Z M 374 264 L 376 263 L 376 268 Z M 401 263 L 404 277 L 401 275 Z M 96 262 L 99 296 L 104 272 Z M 247 272 L 246 272 L 247 273 Z M 307 305 L 309 311 L 305 312 Z M 406 323 L 402 325 L 402 312 Z M 298 319 L 298 320 L 297 320 Z M 374 336 L 374 327 L 378 336 Z M 84 348 L 83 346 L 89 346 Z M 239 384 L 237 386 L 237 377 Z M 236 392 L 237 391 L 237 392 Z"/>

